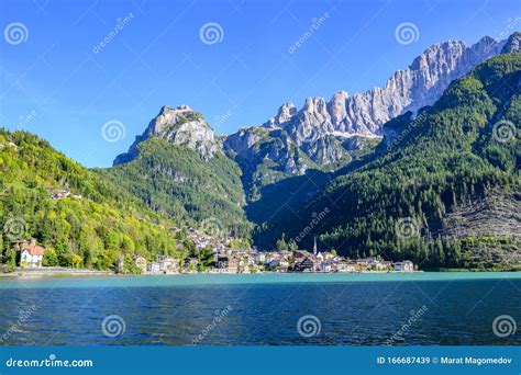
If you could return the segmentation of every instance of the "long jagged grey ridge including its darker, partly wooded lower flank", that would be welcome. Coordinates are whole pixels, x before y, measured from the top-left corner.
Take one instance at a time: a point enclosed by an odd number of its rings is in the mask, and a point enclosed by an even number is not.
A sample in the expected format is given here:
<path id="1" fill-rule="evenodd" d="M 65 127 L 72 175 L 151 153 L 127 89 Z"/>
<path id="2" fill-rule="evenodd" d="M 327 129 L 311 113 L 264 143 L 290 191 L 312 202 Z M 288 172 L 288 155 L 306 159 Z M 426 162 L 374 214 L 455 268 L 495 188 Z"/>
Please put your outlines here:
<path id="1" fill-rule="evenodd" d="M 384 123 L 433 104 L 451 81 L 499 54 L 505 43 L 486 36 L 472 46 L 455 41 L 435 44 L 384 88 L 352 96 L 339 91 L 329 102 L 308 98 L 301 110 L 287 102 L 262 126 L 228 136 L 226 154 L 243 170 L 243 184 L 252 189 L 246 192 L 250 201 L 268 183 L 309 169 L 336 170 L 370 151 L 384 135 Z"/>

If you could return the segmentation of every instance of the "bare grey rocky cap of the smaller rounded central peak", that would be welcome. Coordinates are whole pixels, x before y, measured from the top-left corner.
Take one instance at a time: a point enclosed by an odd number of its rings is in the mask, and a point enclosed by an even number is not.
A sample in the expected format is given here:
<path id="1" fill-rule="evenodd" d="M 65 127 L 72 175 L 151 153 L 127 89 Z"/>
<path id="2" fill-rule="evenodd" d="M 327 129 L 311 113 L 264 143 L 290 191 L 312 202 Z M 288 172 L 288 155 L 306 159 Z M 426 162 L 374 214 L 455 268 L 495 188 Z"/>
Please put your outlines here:
<path id="1" fill-rule="evenodd" d="M 188 105 L 175 109 L 165 105 L 159 114 L 151 121 L 145 132 L 135 138 L 129 151 L 118 156 L 113 164 L 118 166 L 133 160 L 138 152 L 137 145 L 152 137 L 198 150 L 207 160 L 220 151 L 220 145 L 213 130 L 199 113 Z"/>

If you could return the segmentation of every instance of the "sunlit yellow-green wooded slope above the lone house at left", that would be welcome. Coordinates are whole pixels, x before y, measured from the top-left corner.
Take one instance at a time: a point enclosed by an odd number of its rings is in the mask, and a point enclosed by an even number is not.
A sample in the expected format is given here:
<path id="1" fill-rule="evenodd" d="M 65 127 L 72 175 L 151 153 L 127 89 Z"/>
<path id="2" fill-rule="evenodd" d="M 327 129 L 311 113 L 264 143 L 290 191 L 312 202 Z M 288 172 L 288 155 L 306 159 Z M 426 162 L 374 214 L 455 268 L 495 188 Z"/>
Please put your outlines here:
<path id="1" fill-rule="evenodd" d="M 29 133 L 0 129 L 0 250 L 34 237 L 49 265 L 110 269 L 120 257 L 178 255 L 171 223 Z M 179 248 L 180 249 L 180 248 Z M 12 264 L 12 263 L 11 263 Z"/>

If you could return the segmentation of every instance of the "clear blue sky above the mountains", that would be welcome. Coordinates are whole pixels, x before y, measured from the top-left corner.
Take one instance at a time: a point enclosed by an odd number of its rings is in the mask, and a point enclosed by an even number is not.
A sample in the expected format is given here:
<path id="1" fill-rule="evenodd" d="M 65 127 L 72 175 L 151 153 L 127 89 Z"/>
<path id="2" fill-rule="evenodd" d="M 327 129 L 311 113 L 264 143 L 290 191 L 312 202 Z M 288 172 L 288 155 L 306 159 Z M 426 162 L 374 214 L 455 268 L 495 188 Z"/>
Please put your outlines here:
<path id="1" fill-rule="evenodd" d="M 502 36 L 520 16 L 513 0 L 0 0 L 0 126 L 106 167 L 162 105 L 188 104 L 230 134 L 286 101 L 381 86 L 428 46 Z M 395 36 L 404 22 L 410 44 Z M 117 141 L 102 136 L 111 121 L 125 130 Z"/>

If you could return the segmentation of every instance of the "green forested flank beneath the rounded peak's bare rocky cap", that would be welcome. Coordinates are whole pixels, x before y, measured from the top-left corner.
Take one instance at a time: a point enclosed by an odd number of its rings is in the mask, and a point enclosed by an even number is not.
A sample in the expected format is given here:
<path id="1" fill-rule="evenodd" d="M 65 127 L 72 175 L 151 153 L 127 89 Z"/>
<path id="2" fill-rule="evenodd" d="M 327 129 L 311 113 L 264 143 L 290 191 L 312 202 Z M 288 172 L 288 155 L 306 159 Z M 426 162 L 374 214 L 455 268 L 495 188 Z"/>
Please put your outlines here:
<path id="1" fill-rule="evenodd" d="M 96 171 L 182 227 L 211 223 L 222 232 L 250 237 L 241 170 L 232 160 L 220 151 L 204 160 L 197 150 L 160 138 L 137 149 L 134 160 Z"/>

